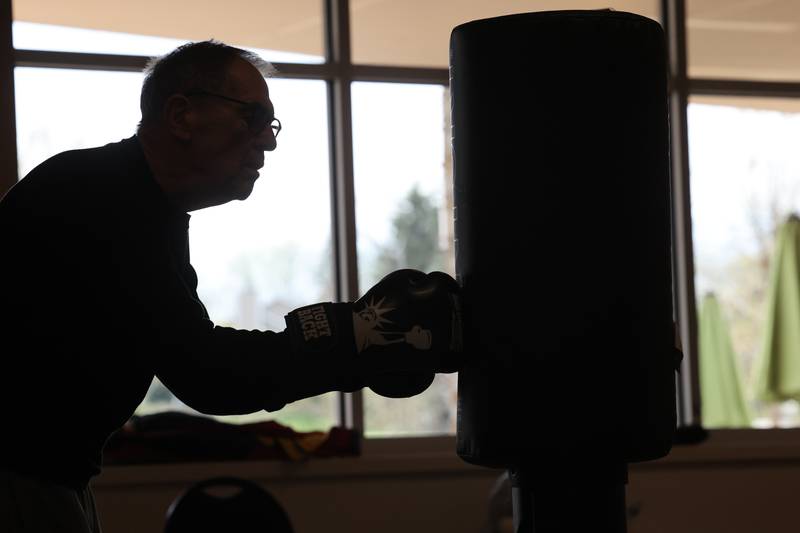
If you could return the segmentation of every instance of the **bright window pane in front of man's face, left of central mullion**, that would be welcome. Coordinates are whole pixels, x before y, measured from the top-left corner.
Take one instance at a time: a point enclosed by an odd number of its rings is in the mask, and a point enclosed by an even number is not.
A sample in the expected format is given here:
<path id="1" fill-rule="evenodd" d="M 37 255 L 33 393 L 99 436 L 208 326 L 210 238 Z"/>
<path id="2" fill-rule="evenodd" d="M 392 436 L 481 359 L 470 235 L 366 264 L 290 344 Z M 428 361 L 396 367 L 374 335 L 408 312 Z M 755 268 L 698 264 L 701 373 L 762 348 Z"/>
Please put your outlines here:
<path id="1" fill-rule="evenodd" d="M 334 299 L 327 93 L 325 82 L 309 80 L 271 79 L 269 89 L 284 126 L 278 148 L 250 198 L 192 213 L 192 264 L 215 323 L 282 331 L 292 309 Z M 327 430 L 338 424 L 338 405 L 330 393 L 227 418 Z"/>

